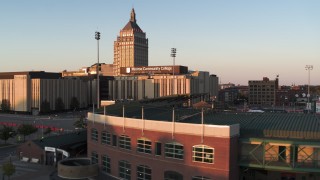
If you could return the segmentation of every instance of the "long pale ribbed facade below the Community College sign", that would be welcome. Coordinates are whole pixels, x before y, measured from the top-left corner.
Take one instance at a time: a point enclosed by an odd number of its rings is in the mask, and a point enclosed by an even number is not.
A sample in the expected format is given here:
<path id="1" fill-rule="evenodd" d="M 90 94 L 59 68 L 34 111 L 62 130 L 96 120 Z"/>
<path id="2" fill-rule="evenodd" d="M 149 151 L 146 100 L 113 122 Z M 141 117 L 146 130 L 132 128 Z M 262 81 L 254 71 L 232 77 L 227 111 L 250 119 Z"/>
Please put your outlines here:
<path id="1" fill-rule="evenodd" d="M 217 81 L 210 81 L 209 77 L 209 72 L 205 71 L 174 76 L 170 74 L 117 76 L 113 81 L 109 81 L 110 98 L 141 100 L 173 95 L 205 94 L 208 100 L 210 87 L 218 87 Z"/>

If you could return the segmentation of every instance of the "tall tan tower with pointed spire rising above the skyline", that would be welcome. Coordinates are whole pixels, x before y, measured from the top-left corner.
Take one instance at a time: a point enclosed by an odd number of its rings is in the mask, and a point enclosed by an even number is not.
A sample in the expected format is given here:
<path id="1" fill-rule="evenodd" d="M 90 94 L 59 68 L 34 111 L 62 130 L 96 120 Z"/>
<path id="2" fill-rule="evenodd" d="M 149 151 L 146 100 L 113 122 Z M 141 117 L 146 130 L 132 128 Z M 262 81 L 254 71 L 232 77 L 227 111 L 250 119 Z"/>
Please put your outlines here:
<path id="1" fill-rule="evenodd" d="M 132 9 L 129 22 L 114 42 L 113 74 L 119 76 L 121 67 L 135 66 L 148 66 L 148 39 Z"/>

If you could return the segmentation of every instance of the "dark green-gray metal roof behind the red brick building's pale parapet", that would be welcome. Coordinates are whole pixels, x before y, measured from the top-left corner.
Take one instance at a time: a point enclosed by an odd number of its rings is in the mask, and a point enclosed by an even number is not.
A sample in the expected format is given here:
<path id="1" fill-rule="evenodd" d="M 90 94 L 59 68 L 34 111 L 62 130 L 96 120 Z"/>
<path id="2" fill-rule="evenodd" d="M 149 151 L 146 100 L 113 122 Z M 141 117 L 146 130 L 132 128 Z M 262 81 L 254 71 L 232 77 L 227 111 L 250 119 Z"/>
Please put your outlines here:
<path id="1" fill-rule="evenodd" d="M 141 118 L 142 106 L 144 119 L 172 121 L 170 106 L 156 104 L 140 104 L 136 102 L 119 103 L 108 106 L 106 112 L 112 116 Z M 175 121 L 181 123 L 200 124 L 201 110 L 192 108 L 175 108 Z M 214 125 L 240 124 L 241 138 L 275 138 L 275 139 L 308 139 L 320 140 L 320 119 L 315 114 L 301 113 L 248 113 L 248 112 L 216 112 L 204 111 L 204 123 Z"/>

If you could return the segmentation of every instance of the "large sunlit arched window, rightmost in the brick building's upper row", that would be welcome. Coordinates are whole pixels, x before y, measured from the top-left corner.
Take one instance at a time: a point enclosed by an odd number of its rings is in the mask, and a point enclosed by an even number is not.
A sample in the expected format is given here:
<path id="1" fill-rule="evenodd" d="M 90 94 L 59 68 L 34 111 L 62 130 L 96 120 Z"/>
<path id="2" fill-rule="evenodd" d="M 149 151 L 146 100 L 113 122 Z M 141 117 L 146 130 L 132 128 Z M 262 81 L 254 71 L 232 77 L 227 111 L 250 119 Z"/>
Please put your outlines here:
<path id="1" fill-rule="evenodd" d="M 195 162 L 214 163 L 214 148 L 205 145 L 193 146 L 192 159 Z"/>

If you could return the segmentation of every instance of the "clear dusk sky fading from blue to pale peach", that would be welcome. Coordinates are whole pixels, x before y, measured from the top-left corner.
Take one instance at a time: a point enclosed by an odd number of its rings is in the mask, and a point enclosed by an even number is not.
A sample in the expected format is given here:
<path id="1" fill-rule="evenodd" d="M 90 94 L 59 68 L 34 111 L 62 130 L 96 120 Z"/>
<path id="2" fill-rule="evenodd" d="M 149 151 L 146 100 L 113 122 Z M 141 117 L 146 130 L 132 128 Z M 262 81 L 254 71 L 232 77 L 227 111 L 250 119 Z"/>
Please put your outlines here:
<path id="1" fill-rule="evenodd" d="M 113 63 L 113 43 L 134 7 L 149 65 L 209 71 L 220 83 L 320 85 L 319 0 L 0 1 L 0 72 L 73 71 Z"/>

